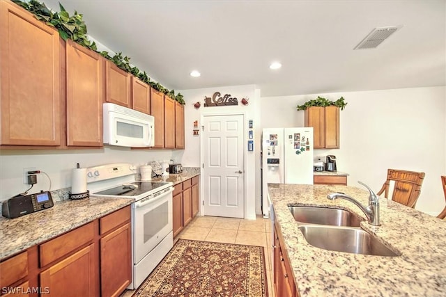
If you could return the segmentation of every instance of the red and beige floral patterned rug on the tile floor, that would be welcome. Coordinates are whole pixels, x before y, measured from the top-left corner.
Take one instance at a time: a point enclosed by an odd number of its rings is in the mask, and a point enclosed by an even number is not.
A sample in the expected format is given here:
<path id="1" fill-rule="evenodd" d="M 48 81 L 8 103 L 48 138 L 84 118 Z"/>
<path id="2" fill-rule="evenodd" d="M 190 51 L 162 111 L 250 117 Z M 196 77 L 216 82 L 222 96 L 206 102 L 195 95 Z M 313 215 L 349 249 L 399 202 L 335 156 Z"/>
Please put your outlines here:
<path id="1" fill-rule="evenodd" d="M 132 295 L 268 296 L 261 246 L 178 239 Z"/>

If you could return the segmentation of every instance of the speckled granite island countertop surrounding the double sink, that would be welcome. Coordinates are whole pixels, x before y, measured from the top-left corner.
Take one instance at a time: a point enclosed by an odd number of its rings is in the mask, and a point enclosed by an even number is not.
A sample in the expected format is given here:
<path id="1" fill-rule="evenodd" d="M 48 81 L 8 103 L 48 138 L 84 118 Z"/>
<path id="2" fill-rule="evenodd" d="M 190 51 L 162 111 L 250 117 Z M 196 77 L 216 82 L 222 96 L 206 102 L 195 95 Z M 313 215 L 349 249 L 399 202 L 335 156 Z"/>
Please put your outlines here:
<path id="1" fill-rule="evenodd" d="M 355 204 L 326 196 L 343 192 L 367 205 L 368 191 L 353 186 L 268 184 L 268 192 L 300 296 L 445 296 L 446 221 L 382 198 L 381 225 L 364 221 L 361 227 L 401 256 L 334 252 L 307 243 L 288 206 L 337 207 L 365 220 Z"/>

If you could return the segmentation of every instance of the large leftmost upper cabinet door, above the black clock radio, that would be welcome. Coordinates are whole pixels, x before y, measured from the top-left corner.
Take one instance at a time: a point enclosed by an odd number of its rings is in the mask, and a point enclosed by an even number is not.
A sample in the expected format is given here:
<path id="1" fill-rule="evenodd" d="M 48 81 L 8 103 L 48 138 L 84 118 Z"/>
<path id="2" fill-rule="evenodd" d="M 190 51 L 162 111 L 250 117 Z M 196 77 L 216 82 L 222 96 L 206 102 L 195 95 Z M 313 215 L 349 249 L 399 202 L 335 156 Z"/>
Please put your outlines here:
<path id="1" fill-rule="evenodd" d="M 1 145 L 61 144 L 59 33 L 0 1 Z"/>

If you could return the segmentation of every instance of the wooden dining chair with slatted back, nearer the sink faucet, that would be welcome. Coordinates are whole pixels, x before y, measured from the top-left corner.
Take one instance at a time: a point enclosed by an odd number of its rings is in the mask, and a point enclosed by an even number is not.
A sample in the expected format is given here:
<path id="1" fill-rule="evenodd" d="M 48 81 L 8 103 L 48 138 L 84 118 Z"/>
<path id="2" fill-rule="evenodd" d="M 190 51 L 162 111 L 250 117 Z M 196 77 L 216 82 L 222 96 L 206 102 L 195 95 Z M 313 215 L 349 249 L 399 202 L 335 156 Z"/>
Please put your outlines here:
<path id="1" fill-rule="evenodd" d="M 423 179 L 424 172 L 388 169 L 387 180 L 378 195 L 384 193 L 385 198 L 414 208 L 420 197 Z M 389 197 L 391 182 L 394 182 L 394 187 L 392 196 Z"/>

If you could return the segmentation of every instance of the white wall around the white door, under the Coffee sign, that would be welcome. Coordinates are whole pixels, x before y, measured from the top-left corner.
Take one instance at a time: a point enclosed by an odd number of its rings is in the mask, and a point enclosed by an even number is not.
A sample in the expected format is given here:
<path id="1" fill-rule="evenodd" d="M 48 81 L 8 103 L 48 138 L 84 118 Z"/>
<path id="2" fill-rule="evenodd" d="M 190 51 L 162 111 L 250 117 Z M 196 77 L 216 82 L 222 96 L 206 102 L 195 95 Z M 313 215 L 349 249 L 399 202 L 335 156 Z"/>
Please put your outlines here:
<path id="1" fill-rule="evenodd" d="M 247 200 L 245 209 L 245 218 L 255 218 L 256 214 L 261 214 L 260 210 L 260 195 L 258 192 L 258 185 L 260 182 L 260 175 L 256 169 L 260 159 L 260 129 L 259 129 L 259 97 L 260 91 L 256 90 L 254 85 L 247 86 L 226 86 L 222 88 L 206 88 L 195 90 L 179 90 L 179 93 L 185 98 L 185 146 L 181 162 L 183 166 L 201 167 L 201 118 L 203 115 L 219 114 L 219 113 L 244 113 L 245 114 L 245 197 Z M 220 92 L 223 95 L 230 94 L 231 97 L 237 97 L 239 104 L 237 106 L 210 106 L 204 107 L 204 98 L 212 97 L 215 92 Z M 240 104 L 242 98 L 248 98 L 249 104 L 244 106 Z M 194 108 L 194 103 L 200 102 L 199 109 Z M 199 122 L 200 134 L 199 136 L 192 135 L 194 121 Z M 247 125 L 248 121 L 254 122 L 254 151 L 247 151 Z"/>

